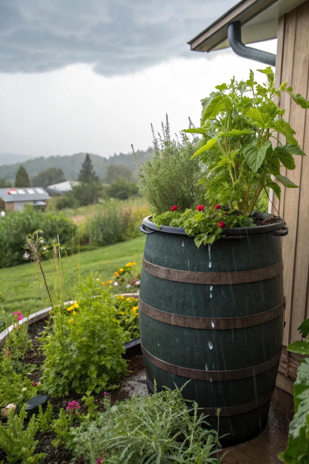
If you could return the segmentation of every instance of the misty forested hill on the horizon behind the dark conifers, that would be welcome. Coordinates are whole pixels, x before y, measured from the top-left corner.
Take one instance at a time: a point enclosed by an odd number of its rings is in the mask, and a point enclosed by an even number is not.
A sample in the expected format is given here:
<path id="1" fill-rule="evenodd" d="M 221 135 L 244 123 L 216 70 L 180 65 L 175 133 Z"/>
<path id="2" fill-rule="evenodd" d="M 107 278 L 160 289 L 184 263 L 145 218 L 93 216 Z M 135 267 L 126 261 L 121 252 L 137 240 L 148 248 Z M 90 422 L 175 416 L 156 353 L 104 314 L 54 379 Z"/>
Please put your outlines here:
<path id="1" fill-rule="evenodd" d="M 148 148 L 146 151 L 137 150 L 136 157 L 139 164 L 143 164 L 147 157 L 151 158 L 153 148 Z M 38 172 L 43 171 L 47 168 L 61 168 L 63 174 L 67 180 L 77 180 L 79 171 L 82 167 L 86 153 L 76 153 L 75 155 L 64 155 L 64 156 L 49 156 L 44 158 L 34 158 L 22 162 L 16 162 L 15 164 L 3 164 L 0 166 L 0 177 L 4 177 L 6 180 L 14 180 L 15 174 L 19 165 L 22 164 L 26 169 L 29 177 L 33 177 Z M 133 173 L 136 173 L 137 168 L 134 163 L 132 153 L 120 153 L 119 155 L 114 154 L 109 158 L 103 158 L 103 156 L 90 154 L 91 161 L 95 168 L 95 173 L 102 179 L 105 176 L 107 166 L 114 164 L 124 164 L 127 168 L 131 169 Z"/>

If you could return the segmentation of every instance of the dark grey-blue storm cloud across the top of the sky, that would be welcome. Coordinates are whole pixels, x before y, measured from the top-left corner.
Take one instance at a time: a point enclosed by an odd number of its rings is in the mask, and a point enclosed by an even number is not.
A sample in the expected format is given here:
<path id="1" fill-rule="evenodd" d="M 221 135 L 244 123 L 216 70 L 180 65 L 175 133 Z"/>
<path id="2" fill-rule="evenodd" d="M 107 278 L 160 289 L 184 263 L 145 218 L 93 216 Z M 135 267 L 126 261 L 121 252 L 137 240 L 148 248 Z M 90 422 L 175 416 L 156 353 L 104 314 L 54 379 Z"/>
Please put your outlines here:
<path id="1" fill-rule="evenodd" d="M 233 0 L 0 0 L 0 72 L 88 63 L 105 76 L 196 56 L 186 42 Z"/>

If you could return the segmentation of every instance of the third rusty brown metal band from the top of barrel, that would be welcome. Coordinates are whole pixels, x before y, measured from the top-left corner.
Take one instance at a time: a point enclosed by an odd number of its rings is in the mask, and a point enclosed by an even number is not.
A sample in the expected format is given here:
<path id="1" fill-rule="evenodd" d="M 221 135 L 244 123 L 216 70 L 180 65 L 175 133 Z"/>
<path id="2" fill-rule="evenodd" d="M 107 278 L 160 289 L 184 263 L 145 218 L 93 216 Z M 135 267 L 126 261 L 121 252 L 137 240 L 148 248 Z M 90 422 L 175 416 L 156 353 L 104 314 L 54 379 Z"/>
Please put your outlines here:
<path id="1" fill-rule="evenodd" d="M 264 372 L 269 371 L 272 367 L 276 366 L 279 362 L 281 356 L 281 348 L 268 361 L 262 362 L 256 366 L 244 367 L 242 369 L 233 369 L 225 371 L 205 371 L 201 369 L 191 369 L 189 367 L 176 366 L 175 364 L 170 364 L 169 362 L 162 361 L 159 358 L 156 358 L 150 354 L 142 345 L 140 344 L 144 358 L 147 361 L 150 361 L 154 366 L 159 367 L 160 369 L 170 372 L 170 374 L 179 375 L 187 379 L 195 380 L 209 380 L 209 381 L 225 381 L 225 380 L 240 380 L 247 379 L 248 377 L 253 377 L 255 375 L 263 374 Z"/>

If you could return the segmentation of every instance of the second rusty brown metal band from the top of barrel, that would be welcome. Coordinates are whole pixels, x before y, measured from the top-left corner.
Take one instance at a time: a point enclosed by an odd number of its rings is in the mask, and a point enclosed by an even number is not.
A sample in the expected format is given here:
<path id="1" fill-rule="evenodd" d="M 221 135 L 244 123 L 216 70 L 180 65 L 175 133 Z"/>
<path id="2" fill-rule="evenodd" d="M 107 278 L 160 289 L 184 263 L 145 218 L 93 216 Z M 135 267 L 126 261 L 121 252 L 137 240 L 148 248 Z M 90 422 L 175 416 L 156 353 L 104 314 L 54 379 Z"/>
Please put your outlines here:
<path id="1" fill-rule="evenodd" d="M 194 317 L 161 311 L 161 309 L 149 306 L 139 298 L 139 310 L 156 321 L 170 325 L 177 325 L 179 327 L 205 330 L 244 329 L 246 327 L 264 324 L 265 322 L 272 321 L 276 317 L 280 316 L 284 311 L 284 304 L 285 298 L 283 303 L 279 304 L 276 308 L 264 311 L 263 313 L 252 314 L 251 316 Z"/>

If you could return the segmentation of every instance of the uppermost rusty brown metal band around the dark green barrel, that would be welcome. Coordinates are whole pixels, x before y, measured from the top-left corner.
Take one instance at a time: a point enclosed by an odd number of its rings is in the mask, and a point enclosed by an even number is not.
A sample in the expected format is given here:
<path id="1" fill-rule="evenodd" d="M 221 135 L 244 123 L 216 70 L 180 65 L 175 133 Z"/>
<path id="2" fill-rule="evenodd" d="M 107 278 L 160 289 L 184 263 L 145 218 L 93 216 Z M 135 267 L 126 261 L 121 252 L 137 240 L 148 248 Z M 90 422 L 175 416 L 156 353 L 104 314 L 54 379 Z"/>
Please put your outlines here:
<path id="1" fill-rule="evenodd" d="M 174 282 L 184 282 L 186 284 L 206 284 L 206 285 L 229 285 L 247 284 L 258 282 L 277 276 L 283 271 L 282 260 L 273 266 L 261 269 L 248 269 L 247 271 L 227 271 L 227 272 L 197 272 L 181 271 L 168 267 L 152 264 L 143 258 L 143 269 L 148 274 L 161 279 L 172 280 Z"/>

